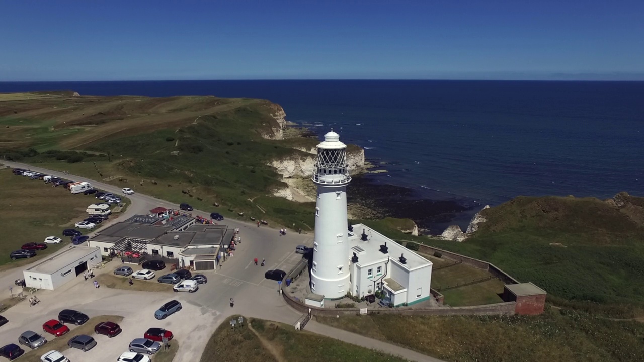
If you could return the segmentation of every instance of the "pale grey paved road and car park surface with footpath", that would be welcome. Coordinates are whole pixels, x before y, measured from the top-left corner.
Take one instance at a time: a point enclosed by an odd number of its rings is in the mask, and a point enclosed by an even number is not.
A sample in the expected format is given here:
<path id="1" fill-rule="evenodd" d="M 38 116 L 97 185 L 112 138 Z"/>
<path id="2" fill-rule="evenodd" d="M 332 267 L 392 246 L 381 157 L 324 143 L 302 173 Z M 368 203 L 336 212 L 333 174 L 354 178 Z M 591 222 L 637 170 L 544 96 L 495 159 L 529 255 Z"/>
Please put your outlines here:
<path id="1" fill-rule="evenodd" d="M 62 178 L 87 181 L 100 189 L 120 193 L 118 187 L 79 176 L 63 175 L 56 171 L 14 162 L 3 162 L 3 164 L 28 168 Z M 178 208 L 176 204 L 152 196 L 137 193 L 128 197 L 131 199 L 132 205 L 118 218 L 110 220 L 109 224 L 125 220 L 133 214 L 147 214 L 147 211 L 156 206 Z M 202 216 L 209 215 L 209 212 L 206 211 L 195 210 L 193 214 L 195 213 Z M 230 227 L 240 228 L 242 243 L 238 245 L 234 257 L 223 263 L 221 269 L 205 272 L 209 282 L 202 285 L 198 292 L 177 294 L 170 291 L 137 292 L 108 288 L 95 289 L 90 281 L 84 281 L 79 276 L 56 291 L 39 291 L 39 298 L 42 301 L 40 305 L 29 307 L 28 303 L 21 302 L 4 312 L 3 315 L 10 320 L 10 323 L 0 329 L 0 341 L 10 343 L 28 329 L 38 332 L 42 330 L 40 326 L 44 321 L 57 317 L 59 310 L 71 308 L 82 310 L 90 317 L 105 314 L 124 316 L 124 321 L 121 323 L 124 332 L 121 335 L 112 339 L 97 336 L 99 345 L 86 353 L 79 350 L 69 350 L 66 354 L 73 361 L 87 360 L 88 357 L 91 357 L 96 362 L 111 362 L 121 352 L 125 352 L 131 339 L 142 337 L 147 328 L 162 327 L 172 330 L 176 340 L 180 343 L 175 362 L 192 362 L 200 359 L 205 344 L 214 329 L 232 314 L 243 314 L 248 317 L 294 325 L 301 318 L 301 313 L 290 308 L 283 301 L 279 296 L 277 283 L 265 280 L 263 273 L 268 269 L 289 271 L 301 259 L 301 255 L 294 252 L 295 246 L 299 244 L 312 245 L 313 234 L 289 233 L 286 236 L 279 236 L 278 230 L 265 226 L 257 227 L 256 224 L 238 220 L 225 220 L 225 223 Z M 109 224 L 102 225 L 102 227 Z M 256 266 L 252 263 L 253 258 L 260 260 L 265 258 L 267 265 L 265 267 Z M 99 272 L 111 272 L 118 265 L 120 263 L 112 262 L 111 265 L 108 264 L 105 269 Z M 16 278 L 22 276 L 21 270 L 0 273 L 0 287 L 12 285 Z M 149 282 L 156 283 L 156 281 Z M 144 283 L 144 281 L 137 280 L 135 283 Z M 69 298 L 71 295 L 74 298 Z M 181 301 L 184 309 L 179 315 L 171 316 L 163 321 L 156 321 L 153 317 L 154 311 L 171 298 Z M 229 306 L 230 298 L 235 300 L 233 308 Z M 185 323 L 185 321 L 190 321 L 190 323 Z M 308 323 L 307 329 L 362 347 L 376 348 L 410 361 L 439 361 L 395 345 L 320 325 L 314 321 Z M 46 350 L 45 348 L 43 353 Z"/>

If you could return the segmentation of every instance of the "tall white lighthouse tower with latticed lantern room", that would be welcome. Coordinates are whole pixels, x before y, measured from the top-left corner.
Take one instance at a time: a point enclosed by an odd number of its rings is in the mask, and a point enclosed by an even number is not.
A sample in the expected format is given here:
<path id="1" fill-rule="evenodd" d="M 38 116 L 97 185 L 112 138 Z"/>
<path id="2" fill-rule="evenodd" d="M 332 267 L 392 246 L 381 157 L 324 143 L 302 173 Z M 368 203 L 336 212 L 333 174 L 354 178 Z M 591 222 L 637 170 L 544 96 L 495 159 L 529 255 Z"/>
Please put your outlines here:
<path id="1" fill-rule="evenodd" d="M 317 202 L 310 287 L 325 299 L 341 298 L 351 291 L 346 225 L 346 186 L 351 176 L 346 145 L 333 130 L 317 145 L 312 180 L 317 184 Z"/>

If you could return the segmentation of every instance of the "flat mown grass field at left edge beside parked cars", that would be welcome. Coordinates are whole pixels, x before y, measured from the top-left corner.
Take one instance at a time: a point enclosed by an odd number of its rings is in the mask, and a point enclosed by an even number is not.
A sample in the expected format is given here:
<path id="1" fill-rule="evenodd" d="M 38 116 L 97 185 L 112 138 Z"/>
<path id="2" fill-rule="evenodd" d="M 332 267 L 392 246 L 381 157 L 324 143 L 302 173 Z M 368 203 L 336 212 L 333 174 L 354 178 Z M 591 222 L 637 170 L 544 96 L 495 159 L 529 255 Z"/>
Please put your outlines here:
<path id="1" fill-rule="evenodd" d="M 86 218 L 85 209 L 95 201 L 91 196 L 73 195 L 64 187 L 52 187 L 41 180 L 14 176 L 10 169 L 0 169 L 0 185 L 3 206 L 0 225 L 3 225 L 6 236 L 0 242 L 2 266 L 31 263 L 68 245 L 70 238 L 62 236 L 62 230 Z M 57 245 L 48 244 L 48 248 L 37 251 L 34 258 L 10 260 L 10 252 L 20 249 L 24 243 L 43 242 L 47 236 L 58 236 L 63 241 Z"/>

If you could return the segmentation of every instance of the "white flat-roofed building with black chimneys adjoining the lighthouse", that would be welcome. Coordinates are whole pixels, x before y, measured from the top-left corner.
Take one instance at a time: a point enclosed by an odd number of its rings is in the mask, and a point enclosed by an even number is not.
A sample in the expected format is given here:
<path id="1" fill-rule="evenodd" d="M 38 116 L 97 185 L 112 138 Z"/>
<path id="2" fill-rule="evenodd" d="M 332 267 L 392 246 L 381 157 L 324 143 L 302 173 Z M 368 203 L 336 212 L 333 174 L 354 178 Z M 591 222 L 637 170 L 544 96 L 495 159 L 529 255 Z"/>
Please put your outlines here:
<path id="1" fill-rule="evenodd" d="M 353 231 L 348 231 L 348 242 L 350 288 L 347 289 L 352 295 L 369 296 L 379 290 L 384 294 L 384 303 L 393 303 L 396 307 L 431 298 L 433 264 L 429 260 L 363 224 L 353 225 Z M 352 262 L 354 253 L 357 262 Z M 307 304 L 323 305 L 314 299 L 307 298 Z"/>

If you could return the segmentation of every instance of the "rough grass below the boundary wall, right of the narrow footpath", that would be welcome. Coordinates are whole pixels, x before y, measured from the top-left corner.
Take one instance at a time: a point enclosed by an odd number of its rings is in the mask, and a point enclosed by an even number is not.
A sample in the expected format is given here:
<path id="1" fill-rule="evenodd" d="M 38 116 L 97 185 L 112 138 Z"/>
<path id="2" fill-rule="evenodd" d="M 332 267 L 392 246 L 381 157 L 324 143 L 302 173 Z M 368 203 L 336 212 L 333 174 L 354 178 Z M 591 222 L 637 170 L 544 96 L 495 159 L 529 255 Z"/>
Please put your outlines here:
<path id="1" fill-rule="evenodd" d="M 593 318 L 583 312 L 316 318 L 339 329 L 450 362 L 636 362 L 644 356 L 644 323 Z"/>

